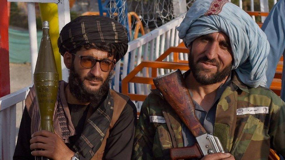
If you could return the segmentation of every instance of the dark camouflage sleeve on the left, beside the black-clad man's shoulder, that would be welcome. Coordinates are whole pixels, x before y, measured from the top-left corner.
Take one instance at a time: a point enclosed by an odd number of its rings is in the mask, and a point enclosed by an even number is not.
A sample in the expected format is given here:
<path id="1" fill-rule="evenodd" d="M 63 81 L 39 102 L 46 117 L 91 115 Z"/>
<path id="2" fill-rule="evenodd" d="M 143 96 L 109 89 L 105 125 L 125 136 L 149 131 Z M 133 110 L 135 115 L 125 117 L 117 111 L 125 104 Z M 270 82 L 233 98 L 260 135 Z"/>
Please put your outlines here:
<path id="1" fill-rule="evenodd" d="M 142 103 L 135 129 L 132 159 L 154 159 L 152 153 L 154 129 L 149 119 L 150 96 L 151 94 Z"/>

